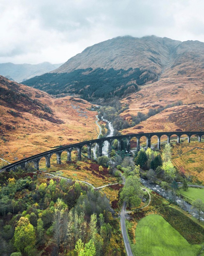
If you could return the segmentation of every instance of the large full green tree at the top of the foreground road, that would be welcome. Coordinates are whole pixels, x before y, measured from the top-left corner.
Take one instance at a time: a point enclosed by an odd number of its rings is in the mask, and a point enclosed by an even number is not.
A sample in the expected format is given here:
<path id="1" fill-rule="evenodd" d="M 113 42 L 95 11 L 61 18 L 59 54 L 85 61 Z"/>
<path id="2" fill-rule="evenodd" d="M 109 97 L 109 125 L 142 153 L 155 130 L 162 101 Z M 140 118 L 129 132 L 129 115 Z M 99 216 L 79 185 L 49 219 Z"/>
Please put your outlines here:
<path id="1" fill-rule="evenodd" d="M 140 195 L 142 194 L 140 188 L 140 180 L 135 176 L 128 176 L 125 182 L 125 186 L 120 192 L 120 197 L 125 200 L 128 206 L 139 206 L 141 203 Z"/>

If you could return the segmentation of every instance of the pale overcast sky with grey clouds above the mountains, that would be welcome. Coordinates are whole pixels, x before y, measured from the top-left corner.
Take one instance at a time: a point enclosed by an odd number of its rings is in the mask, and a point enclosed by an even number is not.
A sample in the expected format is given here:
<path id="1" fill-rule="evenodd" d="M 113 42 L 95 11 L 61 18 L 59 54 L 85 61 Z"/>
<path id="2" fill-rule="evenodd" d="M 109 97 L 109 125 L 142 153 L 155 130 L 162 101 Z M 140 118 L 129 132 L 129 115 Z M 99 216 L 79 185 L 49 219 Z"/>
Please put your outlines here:
<path id="1" fill-rule="evenodd" d="M 204 42 L 202 0 L 0 0 L 0 63 L 63 63 L 116 36 Z"/>

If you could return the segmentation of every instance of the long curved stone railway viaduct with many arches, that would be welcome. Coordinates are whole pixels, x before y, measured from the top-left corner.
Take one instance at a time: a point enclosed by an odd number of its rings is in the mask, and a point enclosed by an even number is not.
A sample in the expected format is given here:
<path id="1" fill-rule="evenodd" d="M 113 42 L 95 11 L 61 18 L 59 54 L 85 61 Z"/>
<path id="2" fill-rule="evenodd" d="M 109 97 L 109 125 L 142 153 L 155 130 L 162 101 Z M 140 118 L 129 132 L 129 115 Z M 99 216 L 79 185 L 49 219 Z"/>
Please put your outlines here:
<path id="1" fill-rule="evenodd" d="M 67 152 L 67 160 L 71 161 L 71 151 L 73 149 L 77 149 L 78 152 L 78 159 L 81 159 L 81 152 L 82 152 L 82 147 L 87 146 L 88 149 L 88 158 L 91 159 L 91 146 L 93 143 L 97 144 L 98 147 L 98 156 L 102 156 L 102 147 L 103 147 L 103 142 L 107 141 L 108 142 L 108 155 L 110 156 L 111 153 L 111 145 L 113 140 L 118 140 L 118 150 L 121 150 L 121 141 L 122 140 L 127 140 L 127 151 L 130 153 L 130 140 L 132 138 L 137 139 L 137 150 L 140 150 L 140 139 L 141 137 L 145 136 L 146 141 L 147 141 L 147 146 L 146 148 L 151 148 L 151 137 L 152 136 L 157 136 L 158 142 L 157 142 L 157 148 L 160 149 L 160 139 L 161 136 L 166 135 L 167 136 L 167 143 L 170 143 L 170 138 L 172 135 L 177 136 L 177 142 L 180 143 L 180 137 L 182 135 L 186 135 L 188 138 L 188 142 L 190 143 L 191 141 L 191 136 L 196 135 L 198 137 L 198 141 L 201 141 L 201 137 L 204 135 L 204 132 L 150 132 L 150 133 L 135 133 L 135 134 L 127 134 L 127 135 L 120 135 L 120 136 L 113 136 L 113 137 L 107 137 L 107 138 L 102 138 L 102 139 L 95 139 L 95 140 L 88 140 L 88 141 L 83 141 L 79 142 L 76 144 L 64 146 L 61 148 L 55 148 L 52 150 L 48 150 L 46 152 L 30 156 L 27 158 L 24 158 L 18 162 L 9 164 L 4 166 L 0 172 L 3 171 L 10 171 L 14 170 L 18 167 L 21 166 L 22 168 L 25 168 L 25 165 L 28 163 L 33 162 L 35 169 L 39 170 L 39 161 L 42 157 L 45 157 L 46 160 L 46 167 L 50 168 L 50 157 L 53 154 L 56 154 L 57 156 L 57 164 L 61 164 L 61 154 L 63 151 Z"/>

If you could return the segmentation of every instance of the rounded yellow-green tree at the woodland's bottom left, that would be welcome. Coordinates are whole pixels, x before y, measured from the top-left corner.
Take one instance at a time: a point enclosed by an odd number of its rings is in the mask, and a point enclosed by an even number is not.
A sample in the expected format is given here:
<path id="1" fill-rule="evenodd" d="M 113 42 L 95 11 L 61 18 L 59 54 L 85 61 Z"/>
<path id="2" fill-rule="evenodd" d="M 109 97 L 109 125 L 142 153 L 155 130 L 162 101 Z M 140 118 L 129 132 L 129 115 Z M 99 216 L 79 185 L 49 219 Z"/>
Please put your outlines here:
<path id="1" fill-rule="evenodd" d="M 35 230 L 28 218 L 21 217 L 14 232 L 14 246 L 22 254 L 25 254 L 26 247 L 35 245 Z"/>

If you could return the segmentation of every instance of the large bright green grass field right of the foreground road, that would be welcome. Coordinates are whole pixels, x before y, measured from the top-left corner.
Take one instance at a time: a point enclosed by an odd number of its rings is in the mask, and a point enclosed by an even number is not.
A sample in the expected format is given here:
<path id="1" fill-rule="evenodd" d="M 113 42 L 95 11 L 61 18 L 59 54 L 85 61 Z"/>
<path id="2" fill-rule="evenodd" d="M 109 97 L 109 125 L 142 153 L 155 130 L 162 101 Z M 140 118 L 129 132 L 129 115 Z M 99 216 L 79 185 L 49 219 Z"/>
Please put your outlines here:
<path id="1" fill-rule="evenodd" d="M 196 256 L 200 245 L 191 245 L 164 218 L 151 214 L 141 219 L 135 230 L 135 256 Z"/>

